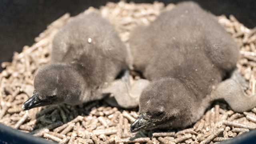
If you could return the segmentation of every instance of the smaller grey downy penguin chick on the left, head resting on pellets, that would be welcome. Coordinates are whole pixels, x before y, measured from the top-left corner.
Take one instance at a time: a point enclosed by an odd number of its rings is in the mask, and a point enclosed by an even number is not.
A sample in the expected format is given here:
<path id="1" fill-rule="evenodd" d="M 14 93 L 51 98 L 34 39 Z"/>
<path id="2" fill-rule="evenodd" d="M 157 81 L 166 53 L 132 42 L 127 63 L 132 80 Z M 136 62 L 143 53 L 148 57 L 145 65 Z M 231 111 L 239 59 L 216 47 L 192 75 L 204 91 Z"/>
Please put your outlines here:
<path id="1" fill-rule="evenodd" d="M 54 37 L 51 58 L 52 64 L 36 73 L 34 95 L 23 110 L 101 99 L 104 82 L 128 69 L 126 47 L 97 12 L 76 16 L 63 26 Z"/>

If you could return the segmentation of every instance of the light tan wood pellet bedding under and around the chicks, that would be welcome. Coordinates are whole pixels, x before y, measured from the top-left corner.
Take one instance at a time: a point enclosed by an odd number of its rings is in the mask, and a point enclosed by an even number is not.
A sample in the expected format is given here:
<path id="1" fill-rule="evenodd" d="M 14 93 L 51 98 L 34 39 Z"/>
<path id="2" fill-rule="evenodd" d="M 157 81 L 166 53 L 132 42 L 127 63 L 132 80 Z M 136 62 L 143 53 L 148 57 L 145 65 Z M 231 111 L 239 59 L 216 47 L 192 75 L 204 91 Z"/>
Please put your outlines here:
<path id="1" fill-rule="evenodd" d="M 135 4 L 108 2 L 100 12 L 118 31 L 128 46 L 130 31 L 137 25 L 148 25 L 164 10 L 161 2 Z M 93 10 L 90 7 L 88 10 Z M 232 15 L 217 16 L 218 22 L 232 34 L 240 46 L 238 71 L 249 82 L 247 94 L 255 94 L 256 85 L 256 28 L 248 29 Z M 33 108 L 23 111 L 22 104 L 33 93 L 33 77 L 38 67 L 50 62 L 52 39 L 58 29 L 70 19 L 64 14 L 35 38 L 35 44 L 24 46 L 14 53 L 12 62 L 3 62 L 0 74 L 0 122 L 62 144 L 213 144 L 229 140 L 256 128 L 256 108 L 235 113 L 223 102 L 214 102 L 201 120 L 186 129 L 141 130 L 128 132 L 138 116 L 138 108 L 123 110 L 108 106 L 104 101 L 79 106 L 66 104 Z M 138 77 L 136 77 L 138 78 Z"/>

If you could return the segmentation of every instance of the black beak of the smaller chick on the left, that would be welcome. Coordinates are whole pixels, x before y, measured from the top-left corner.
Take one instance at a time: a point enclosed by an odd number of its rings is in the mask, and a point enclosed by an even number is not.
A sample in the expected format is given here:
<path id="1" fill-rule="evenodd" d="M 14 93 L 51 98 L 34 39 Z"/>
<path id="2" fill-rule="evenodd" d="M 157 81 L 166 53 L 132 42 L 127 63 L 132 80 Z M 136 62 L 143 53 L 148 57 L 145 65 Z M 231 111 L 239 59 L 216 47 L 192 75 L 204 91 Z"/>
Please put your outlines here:
<path id="1" fill-rule="evenodd" d="M 32 108 L 46 106 L 51 104 L 49 100 L 40 100 L 35 94 L 31 96 L 24 104 L 22 105 L 22 110 L 30 110 Z"/>

